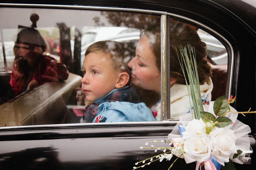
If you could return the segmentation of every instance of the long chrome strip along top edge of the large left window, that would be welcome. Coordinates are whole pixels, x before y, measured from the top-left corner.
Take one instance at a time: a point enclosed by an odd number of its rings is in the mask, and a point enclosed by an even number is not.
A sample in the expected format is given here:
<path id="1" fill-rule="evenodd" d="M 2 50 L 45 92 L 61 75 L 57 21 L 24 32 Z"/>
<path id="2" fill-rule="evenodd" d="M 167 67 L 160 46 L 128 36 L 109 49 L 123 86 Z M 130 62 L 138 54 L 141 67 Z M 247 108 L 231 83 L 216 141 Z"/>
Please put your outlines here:
<path id="1" fill-rule="evenodd" d="M 134 9 L 134 8 L 115 8 L 115 7 L 95 7 L 95 6 L 80 6 L 80 5 L 48 5 L 48 4 L 15 4 L 15 3 L 0 3 L 0 6 L 5 7 L 38 7 L 38 8 L 69 8 L 80 10 L 106 10 L 106 11 L 125 11 L 125 12 L 141 12 L 147 14 L 162 14 L 166 15 L 166 12 L 156 10 Z"/>

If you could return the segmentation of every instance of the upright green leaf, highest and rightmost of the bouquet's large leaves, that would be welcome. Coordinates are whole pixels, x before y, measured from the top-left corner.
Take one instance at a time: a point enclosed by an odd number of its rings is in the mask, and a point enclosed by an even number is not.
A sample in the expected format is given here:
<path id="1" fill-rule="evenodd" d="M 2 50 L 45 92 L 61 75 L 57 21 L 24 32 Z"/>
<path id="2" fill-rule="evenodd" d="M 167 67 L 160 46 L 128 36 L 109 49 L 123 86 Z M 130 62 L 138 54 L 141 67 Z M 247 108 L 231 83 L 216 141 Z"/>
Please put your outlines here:
<path id="1" fill-rule="evenodd" d="M 228 101 L 225 96 L 221 96 L 215 100 L 213 111 L 217 116 L 222 116 L 228 111 Z"/>

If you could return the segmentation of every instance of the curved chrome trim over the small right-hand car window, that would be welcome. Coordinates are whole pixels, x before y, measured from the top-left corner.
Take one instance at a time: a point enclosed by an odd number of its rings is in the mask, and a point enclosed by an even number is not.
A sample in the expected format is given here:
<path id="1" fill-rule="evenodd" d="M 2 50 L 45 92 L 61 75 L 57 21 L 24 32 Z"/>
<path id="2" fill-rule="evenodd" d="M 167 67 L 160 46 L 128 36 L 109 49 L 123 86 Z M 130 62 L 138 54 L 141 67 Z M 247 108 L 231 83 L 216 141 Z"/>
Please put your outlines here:
<path id="1" fill-rule="evenodd" d="M 227 78 L 229 78 L 229 82 L 228 82 L 229 84 L 227 86 L 228 87 L 228 96 L 230 96 L 231 95 L 231 90 L 232 90 L 232 80 L 233 80 L 233 71 L 234 71 L 234 49 L 233 49 L 232 45 L 230 44 L 230 42 L 226 38 L 224 38 L 221 34 L 219 34 L 217 31 L 215 31 L 214 29 L 211 29 L 210 27 L 202 24 L 201 22 L 198 22 L 196 20 L 187 18 L 185 16 L 173 14 L 173 13 L 170 13 L 170 12 L 167 12 L 167 15 L 175 16 L 177 18 L 182 18 L 184 20 L 187 20 L 187 21 L 193 22 L 197 25 L 200 25 L 200 26 L 206 28 L 207 30 L 213 32 L 214 34 L 218 35 L 222 40 L 224 40 L 228 44 L 228 46 L 230 48 L 230 51 L 231 51 L 231 61 L 230 61 L 230 64 L 229 64 L 229 66 L 230 66 L 230 75 L 229 76 L 230 77 L 227 77 Z M 226 97 L 228 97 L 228 96 L 226 96 Z"/>

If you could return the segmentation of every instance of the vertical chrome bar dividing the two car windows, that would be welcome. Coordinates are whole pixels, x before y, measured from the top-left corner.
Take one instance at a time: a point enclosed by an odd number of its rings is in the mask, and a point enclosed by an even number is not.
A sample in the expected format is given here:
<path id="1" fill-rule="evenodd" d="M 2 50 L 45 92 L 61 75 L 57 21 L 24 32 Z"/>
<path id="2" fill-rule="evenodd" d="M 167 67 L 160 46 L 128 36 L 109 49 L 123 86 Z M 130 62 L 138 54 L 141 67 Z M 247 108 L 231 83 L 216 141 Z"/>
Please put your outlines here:
<path id="1" fill-rule="evenodd" d="M 161 16 L 161 113 L 162 118 L 167 120 L 167 55 L 166 55 L 166 28 L 167 28 L 167 16 Z M 162 119 L 161 118 L 161 119 Z M 160 120 L 162 121 L 162 120 Z"/>

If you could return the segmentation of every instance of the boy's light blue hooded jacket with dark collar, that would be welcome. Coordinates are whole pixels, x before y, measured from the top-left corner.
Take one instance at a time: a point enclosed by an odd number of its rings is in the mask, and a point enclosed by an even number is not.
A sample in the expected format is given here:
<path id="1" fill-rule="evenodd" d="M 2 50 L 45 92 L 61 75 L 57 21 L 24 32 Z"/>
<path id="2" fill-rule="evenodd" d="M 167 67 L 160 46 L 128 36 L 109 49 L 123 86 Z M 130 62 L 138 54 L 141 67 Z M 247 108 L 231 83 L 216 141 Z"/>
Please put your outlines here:
<path id="1" fill-rule="evenodd" d="M 131 93 L 130 93 L 131 92 Z M 121 101 L 111 101 L 106 100 L 106 98 L 111 98 L 116 94 L 120 97 Z M 122 97 L 125 95 L 126 97 Z M 98 103 L 98 112 L 93 122 L 144 122 L 144 121 L 156 121 L 150 109 L 145 103 L 131 103 L 128 101 L 123 101 L 123 98 L 130 99 L 133 97 L 127 97 L 134 95 L 134 90 L 129 86 L 125 86 L 120 89 L 114 89 L 106 96 L 94 101 Z M 110 101 L 110 102 L 108 102 Z M 133 101 L 132 101 L 133 102 Z"/>

